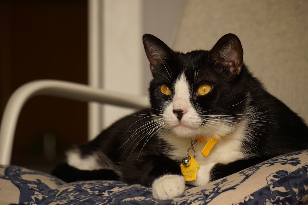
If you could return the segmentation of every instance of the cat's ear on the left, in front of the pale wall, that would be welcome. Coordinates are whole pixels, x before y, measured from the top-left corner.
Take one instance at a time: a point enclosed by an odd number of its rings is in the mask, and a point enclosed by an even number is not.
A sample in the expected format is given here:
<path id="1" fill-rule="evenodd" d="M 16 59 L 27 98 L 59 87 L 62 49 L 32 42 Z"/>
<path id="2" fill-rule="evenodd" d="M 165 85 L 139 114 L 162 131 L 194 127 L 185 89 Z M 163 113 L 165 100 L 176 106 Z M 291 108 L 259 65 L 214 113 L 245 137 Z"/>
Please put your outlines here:
<path id="1" fill-rule="evenodd" d="M 170 59 L 173 51 L 163 41 L 151 34 L 144 34 L 142 40 L 150 62 L 150 70 L 153 73 L 155 66 Z"/>

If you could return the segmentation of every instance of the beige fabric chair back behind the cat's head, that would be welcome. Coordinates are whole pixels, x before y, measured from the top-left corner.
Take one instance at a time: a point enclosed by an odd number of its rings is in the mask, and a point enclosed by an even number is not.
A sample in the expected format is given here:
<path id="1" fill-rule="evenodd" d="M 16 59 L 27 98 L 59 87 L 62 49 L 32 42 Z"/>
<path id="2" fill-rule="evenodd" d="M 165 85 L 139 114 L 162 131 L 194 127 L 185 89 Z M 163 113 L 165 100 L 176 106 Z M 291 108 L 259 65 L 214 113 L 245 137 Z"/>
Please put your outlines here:
<path id="1" fill-rule="evenodd" d="M 307 11 L 306 0 L 188 0 L 171 44 L 181 51 L 211 49 L 224 34 L 236 34 L 245 64 L 307 122 Z"/>

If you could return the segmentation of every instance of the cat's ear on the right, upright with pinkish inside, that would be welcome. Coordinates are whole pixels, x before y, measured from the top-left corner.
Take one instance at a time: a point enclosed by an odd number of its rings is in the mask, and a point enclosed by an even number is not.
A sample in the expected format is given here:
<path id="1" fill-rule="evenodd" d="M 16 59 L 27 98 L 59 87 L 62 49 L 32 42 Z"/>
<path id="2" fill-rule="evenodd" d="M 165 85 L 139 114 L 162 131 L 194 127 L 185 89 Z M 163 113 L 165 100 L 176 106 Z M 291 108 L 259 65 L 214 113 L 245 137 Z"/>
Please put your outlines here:
<path id="1" fill-rule="evenodd" d="M 234 34 L 221 37 L 210 50 L 215 64 L 222 64 L 233 79 L 240 74 L 243 66 L 243 48 L 240 39 Z"/>

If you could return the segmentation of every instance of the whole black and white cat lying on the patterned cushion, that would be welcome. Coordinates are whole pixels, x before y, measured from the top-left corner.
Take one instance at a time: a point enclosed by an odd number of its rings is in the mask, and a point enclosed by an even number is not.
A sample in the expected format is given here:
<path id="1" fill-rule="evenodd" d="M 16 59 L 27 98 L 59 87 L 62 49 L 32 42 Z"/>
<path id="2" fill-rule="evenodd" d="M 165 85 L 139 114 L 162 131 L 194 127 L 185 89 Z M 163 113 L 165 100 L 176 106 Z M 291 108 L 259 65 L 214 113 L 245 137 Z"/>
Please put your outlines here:
<path id="1" fill-rule="evenodd" d="M 308 148 L 306 124 L 249 73 L 234 34 L 221 37 L 210 51 L 185 54 L 150 34 L 143 43 L 153 75 L 151 108 L 68 151 L 67 163 L 54 175 L 67 182 L 140 183 L 152 186 L 153 197 L 163 200 L 183 194 L 185 183 L 202 186 Z M 188 165 L 188 155 L 200 167 L 196 180 L 185 182 L 180 165 L 183 158 Z"/>

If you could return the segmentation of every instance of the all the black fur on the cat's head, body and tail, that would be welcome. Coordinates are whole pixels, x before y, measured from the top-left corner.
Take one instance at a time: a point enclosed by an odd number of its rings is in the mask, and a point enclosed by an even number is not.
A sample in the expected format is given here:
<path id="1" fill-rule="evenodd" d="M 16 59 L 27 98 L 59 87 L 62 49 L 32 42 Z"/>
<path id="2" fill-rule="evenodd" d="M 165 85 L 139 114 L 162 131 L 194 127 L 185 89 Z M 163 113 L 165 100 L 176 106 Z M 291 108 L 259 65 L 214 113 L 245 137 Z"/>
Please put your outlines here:
<path id="1" fill-rule="evenodd" d="M 246 157 L 227 164 L 216 164 L 210 170 L 211 180 L 274 156 L 308 148 L 307 125 L 252 76 L 243 64 L 243 50 L 235 35 L 225 35 L 210 51 L 197 50 L 186 54 L 172 51 L 150 34 L 144 35 L 143 42 L 153 75 L 149 87 L 151 108 L 115 122 L 97 138 L 78 147 L 81 156 L 98 155 L 102 163 L 107 156 L 116 170 L 78 172 L 65 164 L 56 168 L 53 172 L 55 176 L 68 182 L 120 179 L 126 183 L 150 186 L 164 174 L 181 175 L 181 158 L 171 159 L 169 152 L 176 148 L 160 136 L 166 128 L 159 130 L 158 122 L 154 120 L 157 117 L 153 114 L 162 114 L 174 97 L 174 93 L 162 94 L 160 85 L 165 84 L 174 91 L 174 83 L 182 73 L 189 82 L 190 102 L 204 124 L 210 116 L 216 115 L 227 115 L 225 118 L 228 121 L 225 123 L 230 126 L 237 126 L 243 118 L 249 121 L 247 132 L 250 135 L 242 142 Z M 212 86 L 205 96 L 196 93 L 201 84 Z M 173 112 L 181 115 L 179 110 Z M 177 119 L 181 120 L 182 117 Z M 187 145 L 189 147 L 190 144 Z M 185 155 L 183 153 L 183 157 Z M 110 177 L 106 177 L 107 173 Z"/>

